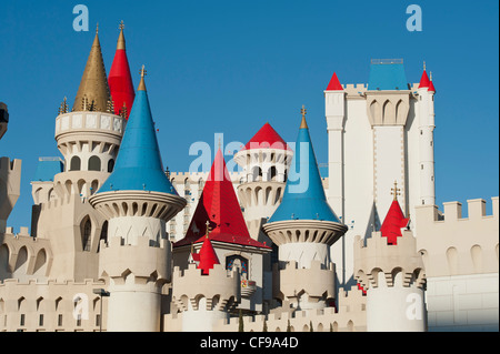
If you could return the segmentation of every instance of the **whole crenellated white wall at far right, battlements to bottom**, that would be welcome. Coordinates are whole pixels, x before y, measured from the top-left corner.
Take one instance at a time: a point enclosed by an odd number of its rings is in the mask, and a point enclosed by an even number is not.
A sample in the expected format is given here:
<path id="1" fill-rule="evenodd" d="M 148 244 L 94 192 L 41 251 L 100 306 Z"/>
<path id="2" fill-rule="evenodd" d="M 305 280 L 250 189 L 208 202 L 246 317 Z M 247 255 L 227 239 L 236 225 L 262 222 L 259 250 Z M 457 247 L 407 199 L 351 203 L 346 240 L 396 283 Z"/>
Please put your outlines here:
<path id="1" fill-rule="evenodd" d="M 429 331 L 499 330 L 499 199 L 417 208 L 417 244 L 428 276 Z M 487 212 L 490 209 L 491 212 Z"/>

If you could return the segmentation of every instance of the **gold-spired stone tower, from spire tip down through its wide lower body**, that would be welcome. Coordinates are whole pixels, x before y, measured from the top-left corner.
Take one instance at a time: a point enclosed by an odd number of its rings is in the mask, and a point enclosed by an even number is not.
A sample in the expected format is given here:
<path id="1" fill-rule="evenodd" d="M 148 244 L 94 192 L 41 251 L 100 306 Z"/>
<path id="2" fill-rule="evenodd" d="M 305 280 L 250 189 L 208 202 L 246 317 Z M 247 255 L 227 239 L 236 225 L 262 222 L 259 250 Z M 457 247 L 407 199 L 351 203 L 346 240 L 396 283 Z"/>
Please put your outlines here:
<path id="1" fill-rule="evenodd" d="M 52 251 L 58 254 L 51 267 L 53 279 L 82 281 L 98 276 L 99 240 L 106 239 L 106 220 L 88 199 L 112 171 L 124 127 L 126 119 L 112 111 L 96 33 L 72 111 L 64 99 L 56 119 L 54 138 L 64 169 L 32 182 L 39 208 L 39 215 L 33 208 L 32 236 L 51 240 Z"/>

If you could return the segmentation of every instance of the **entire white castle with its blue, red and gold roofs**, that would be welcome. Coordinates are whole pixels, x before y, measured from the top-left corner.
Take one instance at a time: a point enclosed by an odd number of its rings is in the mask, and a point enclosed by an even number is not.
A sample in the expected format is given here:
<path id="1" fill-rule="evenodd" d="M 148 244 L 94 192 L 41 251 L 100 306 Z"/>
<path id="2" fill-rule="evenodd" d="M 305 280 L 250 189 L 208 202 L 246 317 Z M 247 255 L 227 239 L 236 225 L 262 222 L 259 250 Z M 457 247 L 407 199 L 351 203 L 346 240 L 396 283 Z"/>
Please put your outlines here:
<path id="1" fill-rule="evenodd" d="M 21 161 L 0 159 L 1 332 L 498 331 L 499 200 L 436 205 L 426 68 L 333 73 L 323 176 L 304 107 L 294 144 L 266 123 L 242 172 L 223 146 L 210 171 L 168 171 L 144 77 L 136 91 L 123 23 L 109 74 L 96 33 L 56 118 L 61 155 L 31 180 L 31 233 L 8 226 Z"/>

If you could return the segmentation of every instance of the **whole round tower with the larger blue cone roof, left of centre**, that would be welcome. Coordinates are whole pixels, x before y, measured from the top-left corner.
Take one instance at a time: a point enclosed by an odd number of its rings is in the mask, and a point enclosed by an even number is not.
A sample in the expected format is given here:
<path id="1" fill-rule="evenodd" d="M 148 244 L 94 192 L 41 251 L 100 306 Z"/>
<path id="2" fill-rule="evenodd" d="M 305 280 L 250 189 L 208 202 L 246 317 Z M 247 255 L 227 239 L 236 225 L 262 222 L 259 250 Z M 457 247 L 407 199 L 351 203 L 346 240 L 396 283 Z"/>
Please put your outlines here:
<path id="1" fill-rule="evenodd" d="M 144 73 L 113 173 L 89 200 L 109 220 L 99 264 L 111 294 L 108 331 L 160 330 L 161 287 L 171 275 L 166 222 L 186 206 L 163 172 Z"/>

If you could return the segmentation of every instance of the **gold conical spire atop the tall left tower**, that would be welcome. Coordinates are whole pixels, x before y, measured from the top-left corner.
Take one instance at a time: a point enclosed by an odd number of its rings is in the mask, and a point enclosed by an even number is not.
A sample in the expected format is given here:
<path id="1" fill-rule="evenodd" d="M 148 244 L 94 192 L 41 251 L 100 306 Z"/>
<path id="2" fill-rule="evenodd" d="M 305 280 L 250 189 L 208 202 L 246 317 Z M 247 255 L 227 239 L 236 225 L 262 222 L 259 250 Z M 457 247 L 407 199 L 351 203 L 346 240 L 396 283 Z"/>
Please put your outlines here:
<path id="1" fill-rule="evenodd" d="M 99 112 L 106 112 L 108 102 L 111 100 L 98 32 L 99 28 L 96 30 L 96 38 L 73 102 L 73 111 L 81 111 L 84 97 L 89 103 L 86 107 L 90 108 L 91 111 Z"/>

